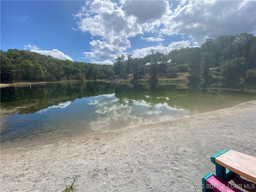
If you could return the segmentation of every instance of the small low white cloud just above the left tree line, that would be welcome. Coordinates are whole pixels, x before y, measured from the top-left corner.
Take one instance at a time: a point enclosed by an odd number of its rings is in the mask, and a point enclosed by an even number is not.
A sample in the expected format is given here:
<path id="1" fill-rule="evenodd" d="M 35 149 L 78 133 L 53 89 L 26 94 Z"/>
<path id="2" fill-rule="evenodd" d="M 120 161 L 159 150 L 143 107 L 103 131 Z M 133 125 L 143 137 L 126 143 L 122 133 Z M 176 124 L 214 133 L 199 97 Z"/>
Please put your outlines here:
<path id="1" fill-rule="evenodd" d="M 61 52 L 57 49 L 53 49 L 51 51 L 39 50 L 39 48 L 37 46 L 31 45 L 31 44 L 24 45 L 24 49 L 30 50 L 31 52 L 40 53 L 42 55 L 47 55 L 47 56 L 50 55 L 50 56 L 53 56 L 54 58 L 61 59 L 61 60 L 73 61 L 73 59 L 70 56 L 65 55 L 63 52 Z"/>

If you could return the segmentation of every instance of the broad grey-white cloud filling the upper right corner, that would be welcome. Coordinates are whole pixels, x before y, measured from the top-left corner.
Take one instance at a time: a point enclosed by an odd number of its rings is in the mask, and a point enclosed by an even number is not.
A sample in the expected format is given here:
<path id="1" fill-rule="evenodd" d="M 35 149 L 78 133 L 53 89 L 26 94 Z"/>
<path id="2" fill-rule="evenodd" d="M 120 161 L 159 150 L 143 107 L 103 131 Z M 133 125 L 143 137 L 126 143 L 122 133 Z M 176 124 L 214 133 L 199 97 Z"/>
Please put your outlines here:
<path id="1" fill-rule="evenodd" d="M 191 0 L 164 16 L 162 24 L 162 34 L 182 34 L 201 46 L 207 38 L 256 32 L 256 2 Z"/>

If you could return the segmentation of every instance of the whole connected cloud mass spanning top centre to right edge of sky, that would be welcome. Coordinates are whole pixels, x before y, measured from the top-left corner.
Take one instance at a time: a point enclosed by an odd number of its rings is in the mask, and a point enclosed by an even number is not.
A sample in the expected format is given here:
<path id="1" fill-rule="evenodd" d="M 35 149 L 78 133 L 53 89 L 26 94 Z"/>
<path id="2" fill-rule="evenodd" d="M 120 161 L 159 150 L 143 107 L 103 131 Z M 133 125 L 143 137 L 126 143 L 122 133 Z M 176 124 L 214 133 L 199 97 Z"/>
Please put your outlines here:
<path id="1" fill-rule="evenodd" d="M 150 49 L 168 54 L 174 48 L 201 46 L 207 38 L 223 34 L 255 33 L 256 1 L 95 0 L 86 2 L 74 18 L 78 30 L 93 38 L 85 57 L 113 60 L 126 51 L 134 57 L 146 56 Z M 136 36 L 155 44 L 130 50 Z M 183 41 L 170 43 L 168 36 L 182 36 Z"/>

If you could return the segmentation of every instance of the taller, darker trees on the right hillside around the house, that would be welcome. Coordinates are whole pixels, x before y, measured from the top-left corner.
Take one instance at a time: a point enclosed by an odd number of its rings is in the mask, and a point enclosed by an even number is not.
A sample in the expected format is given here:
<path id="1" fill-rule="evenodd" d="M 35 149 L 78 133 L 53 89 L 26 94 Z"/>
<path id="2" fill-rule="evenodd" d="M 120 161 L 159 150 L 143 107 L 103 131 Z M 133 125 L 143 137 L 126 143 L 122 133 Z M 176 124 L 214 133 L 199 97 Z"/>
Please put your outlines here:
<path id="1" fill-rule="evenodd" d="M 146 73 L 152 77 L 164 74 L 166 78 L 176 78 L 177 73 L 188 72 L 189 80 L 198 84 L 219 82 L 256 83 L 256 36 L 241 33 L 222 35 L 207 39 L 200 47 L 186 47 L 172 50 L 169 54 L 150 51 L 144 58 L 132 58 L 128 54 L 118 56 L 114 63 L 114 74 L 126 76 L 134 74 L 140 78 Z M 171 62 L 168 63 L 168 60 Z M 144 67 L 150 62 L 150 70 Z"/>

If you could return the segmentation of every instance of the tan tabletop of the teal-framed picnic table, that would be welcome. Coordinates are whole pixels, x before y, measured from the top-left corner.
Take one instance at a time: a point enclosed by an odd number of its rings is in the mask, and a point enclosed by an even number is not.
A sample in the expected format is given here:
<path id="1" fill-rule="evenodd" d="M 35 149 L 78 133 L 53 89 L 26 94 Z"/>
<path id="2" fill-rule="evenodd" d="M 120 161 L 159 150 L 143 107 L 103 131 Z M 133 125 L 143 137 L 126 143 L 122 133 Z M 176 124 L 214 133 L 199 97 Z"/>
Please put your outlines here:
<path id="1" fill-rule="evenodd" d="M 216 157 L 215 162 L 253 182 L 256 182 L 256 158 L 234 150 Z"/>

